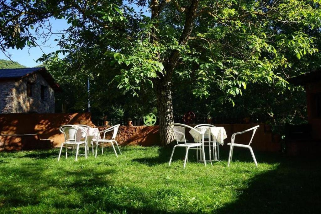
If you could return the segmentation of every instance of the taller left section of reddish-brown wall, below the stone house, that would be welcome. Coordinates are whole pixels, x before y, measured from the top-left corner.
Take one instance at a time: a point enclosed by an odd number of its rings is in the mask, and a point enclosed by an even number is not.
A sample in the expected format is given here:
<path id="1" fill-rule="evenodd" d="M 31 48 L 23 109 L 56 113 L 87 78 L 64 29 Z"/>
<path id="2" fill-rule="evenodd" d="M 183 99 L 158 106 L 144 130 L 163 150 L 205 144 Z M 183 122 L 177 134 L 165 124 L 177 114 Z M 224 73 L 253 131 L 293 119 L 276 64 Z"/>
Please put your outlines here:
<path id="1" fill-rule="evenodd" d="M 94 126 L 90 113 L 0 114 L 0 151 L 59 146 L 64 140 L 59 127 L 65 124 Z M 37 134 L 34 136 L 5 136 Z M 44 139 L 44 140 L 43 140 Z"/>

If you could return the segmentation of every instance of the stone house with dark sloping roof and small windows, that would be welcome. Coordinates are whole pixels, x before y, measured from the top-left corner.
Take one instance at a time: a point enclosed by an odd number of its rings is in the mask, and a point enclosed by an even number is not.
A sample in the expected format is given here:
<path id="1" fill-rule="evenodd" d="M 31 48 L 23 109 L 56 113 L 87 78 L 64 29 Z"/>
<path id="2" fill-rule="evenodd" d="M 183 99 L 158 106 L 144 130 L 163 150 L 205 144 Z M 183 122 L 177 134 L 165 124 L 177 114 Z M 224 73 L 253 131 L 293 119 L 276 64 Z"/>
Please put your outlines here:
<path id="1" fill-rule="evenodd" d="M 44 67 L 0 69 L 0 113 L 54 113 L 57 91 Z"/>

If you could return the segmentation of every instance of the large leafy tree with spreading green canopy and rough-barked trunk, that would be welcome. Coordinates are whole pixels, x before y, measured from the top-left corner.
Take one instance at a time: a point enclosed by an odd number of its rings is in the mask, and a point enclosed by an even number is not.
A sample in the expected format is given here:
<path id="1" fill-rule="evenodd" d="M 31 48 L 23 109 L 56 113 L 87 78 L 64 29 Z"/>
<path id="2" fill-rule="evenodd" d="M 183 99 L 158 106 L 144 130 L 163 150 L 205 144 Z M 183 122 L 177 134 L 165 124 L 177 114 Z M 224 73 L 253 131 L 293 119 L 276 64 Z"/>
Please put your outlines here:
<path id="1" fill-rule="evenodd" d="M 151 16 L 132 4 L 148 5 Z M 48 37 L 49 17 L 65 19 L 59 51 L 48 66 L 116 83 L 157 99 L 163 144 L 171 140 L 172 89 L 235 104 L 249 85 L 291 89 L 286 78 L 320 67 L 320 0 L 2 1 L 0 49 L 36 46 Z M 58 53 L 68 55 L 59 59 Z M 307 57 L 311 56 L 312 57 Z M 153 88 L 154 90 L 150 90 Z M 184 87 L 183 87 L 184 88 Z M 269 93 L 269 90 L 257 93 Z"/>

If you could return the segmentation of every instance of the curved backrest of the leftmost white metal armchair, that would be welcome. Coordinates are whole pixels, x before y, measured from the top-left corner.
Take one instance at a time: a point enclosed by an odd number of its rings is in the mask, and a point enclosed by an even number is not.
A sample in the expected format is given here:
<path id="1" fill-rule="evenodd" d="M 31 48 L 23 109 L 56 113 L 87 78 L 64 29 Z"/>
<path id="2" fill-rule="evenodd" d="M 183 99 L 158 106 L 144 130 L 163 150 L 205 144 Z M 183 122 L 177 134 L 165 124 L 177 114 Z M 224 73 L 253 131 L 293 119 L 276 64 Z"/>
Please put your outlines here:
<path id="1" fill-rule="evenodd" d="M 87 132 L 79 126 L 75 125 L 63 125 L 59 128 L 59 131 L 64 134 L 65 141 L 79 141 L 80 138 L 87 140 Z"/>

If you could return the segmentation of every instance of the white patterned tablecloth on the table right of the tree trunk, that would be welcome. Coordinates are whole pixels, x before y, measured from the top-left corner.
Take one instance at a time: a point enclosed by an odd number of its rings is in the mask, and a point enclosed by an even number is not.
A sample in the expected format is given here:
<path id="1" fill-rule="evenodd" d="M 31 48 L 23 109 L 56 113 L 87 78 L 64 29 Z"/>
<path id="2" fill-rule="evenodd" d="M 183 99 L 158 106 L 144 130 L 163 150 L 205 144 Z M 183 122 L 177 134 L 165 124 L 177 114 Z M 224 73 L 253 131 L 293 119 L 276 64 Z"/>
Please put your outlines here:
<path id="1" fill-rule="evenodd" d="M 227 138 L 226 131 L 224 127 L 198 127 L 195 128 L 196 130 L 200 131 L 201 133 L 204 134 L 205 138 L 208 138 L 208 133 L 210 132 L 216 139 L 216 142 L 220 143 L 221 145 L 224 144 L 224 139 Z M 192 135 L 194 138 L 195 142 L 198 141 L 199 133 L 196 132 L 195 130 L 191 129 L 189 133 Z"/>

